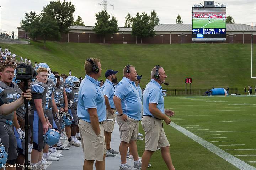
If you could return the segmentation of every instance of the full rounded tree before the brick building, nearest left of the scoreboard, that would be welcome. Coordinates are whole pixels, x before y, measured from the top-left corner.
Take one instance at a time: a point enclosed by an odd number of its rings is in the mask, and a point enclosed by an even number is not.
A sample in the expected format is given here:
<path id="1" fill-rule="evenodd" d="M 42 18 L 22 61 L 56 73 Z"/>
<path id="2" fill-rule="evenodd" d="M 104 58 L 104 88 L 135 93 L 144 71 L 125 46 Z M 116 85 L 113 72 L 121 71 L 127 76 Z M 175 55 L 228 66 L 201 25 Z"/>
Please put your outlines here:
<path id="1" fill-rule="evenodd" d="M 133 18 L 132 35 L 136 37 L 136 44 L 137 36 L 140 37 L 140 43 L 142 43 L 143 37 L 153 37 L 155 35 L 154 23 L 150 22 L 149 16 L 145 12 L 142 14 L 137 12 L 136 17 Z"/>

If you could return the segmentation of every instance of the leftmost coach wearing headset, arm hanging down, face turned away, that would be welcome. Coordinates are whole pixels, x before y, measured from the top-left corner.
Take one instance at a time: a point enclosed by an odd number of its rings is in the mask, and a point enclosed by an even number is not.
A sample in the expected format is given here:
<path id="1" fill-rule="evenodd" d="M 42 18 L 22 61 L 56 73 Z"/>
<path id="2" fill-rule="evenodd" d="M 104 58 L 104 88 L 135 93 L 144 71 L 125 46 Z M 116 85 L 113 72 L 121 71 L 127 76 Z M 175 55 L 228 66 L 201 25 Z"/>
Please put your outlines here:
<path id="1" fill-rule="evenodd" d="M 87 59 L 84 68 L 86 76 L 78 92 L 78 126 L 85 159 L 83 170 L 92 170 L 94 161 L 97 170 L 105 170 L 103 121 L 106 119 L 106 106 L 100 82 L 97 80 L 101 76 L 100 60 Z"/>

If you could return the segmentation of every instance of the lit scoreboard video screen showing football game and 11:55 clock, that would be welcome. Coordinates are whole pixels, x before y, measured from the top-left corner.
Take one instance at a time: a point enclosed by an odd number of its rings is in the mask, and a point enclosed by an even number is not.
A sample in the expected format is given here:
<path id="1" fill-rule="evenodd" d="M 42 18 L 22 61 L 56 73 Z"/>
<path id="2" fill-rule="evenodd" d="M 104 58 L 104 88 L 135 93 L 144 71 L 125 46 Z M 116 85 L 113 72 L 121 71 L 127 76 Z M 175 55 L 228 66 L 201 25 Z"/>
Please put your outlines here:
<path id="1" fill-rule="evenodd" d="M 193 41 L 226 40 L 226 8 L 193 8 Z"/>

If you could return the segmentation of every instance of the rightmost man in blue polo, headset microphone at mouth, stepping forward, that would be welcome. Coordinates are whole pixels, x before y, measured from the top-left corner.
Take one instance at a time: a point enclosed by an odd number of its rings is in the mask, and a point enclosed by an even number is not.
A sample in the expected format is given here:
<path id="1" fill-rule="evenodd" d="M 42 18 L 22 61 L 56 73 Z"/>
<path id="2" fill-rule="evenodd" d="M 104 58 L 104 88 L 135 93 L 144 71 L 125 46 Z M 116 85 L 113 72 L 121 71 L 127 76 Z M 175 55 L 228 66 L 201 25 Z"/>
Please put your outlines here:
<path id="1" fill-rule="evenodd" d="M 169 141 L 165 135 L 162 121 L 168 125 L 174 112 L 165 110 L 162 83 L 165 83 L 165 71 L 156 66 L 151 71 L 151 80 L 146 85 L 143 93 L 143 118 L 142 127 L 145 131 L 145 151 L 142 155 L 142 170 L 147 169 L 151 156 L 157 148 L 161 148 L 162 157 L 169 170 L 175 170 L 169 149 Z"/>

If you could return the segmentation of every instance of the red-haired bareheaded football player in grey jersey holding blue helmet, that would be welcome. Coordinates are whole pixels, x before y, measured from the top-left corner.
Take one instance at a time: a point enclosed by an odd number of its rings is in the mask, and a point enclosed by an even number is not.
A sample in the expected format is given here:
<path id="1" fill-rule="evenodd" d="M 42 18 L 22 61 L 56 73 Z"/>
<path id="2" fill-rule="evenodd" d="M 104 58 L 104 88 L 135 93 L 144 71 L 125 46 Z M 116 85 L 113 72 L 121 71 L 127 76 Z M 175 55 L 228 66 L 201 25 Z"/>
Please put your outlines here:
<path id="1" fill-rule="evenodd" d="M 33 149 L 31 152 L 32 169 L 36 170 L 42 167 L 42 150 L 44 147 L 43 135 L 52 125 L 47 121 L 46 111 L 49 109 L 49 91 L 46 86 L 47 69 L 37 69 L 37 81 L 30 86 L 32 93 L 32 100 L 30 102 L 29 124 L 31 128 L 31 135 L 33 138 Z"/>

